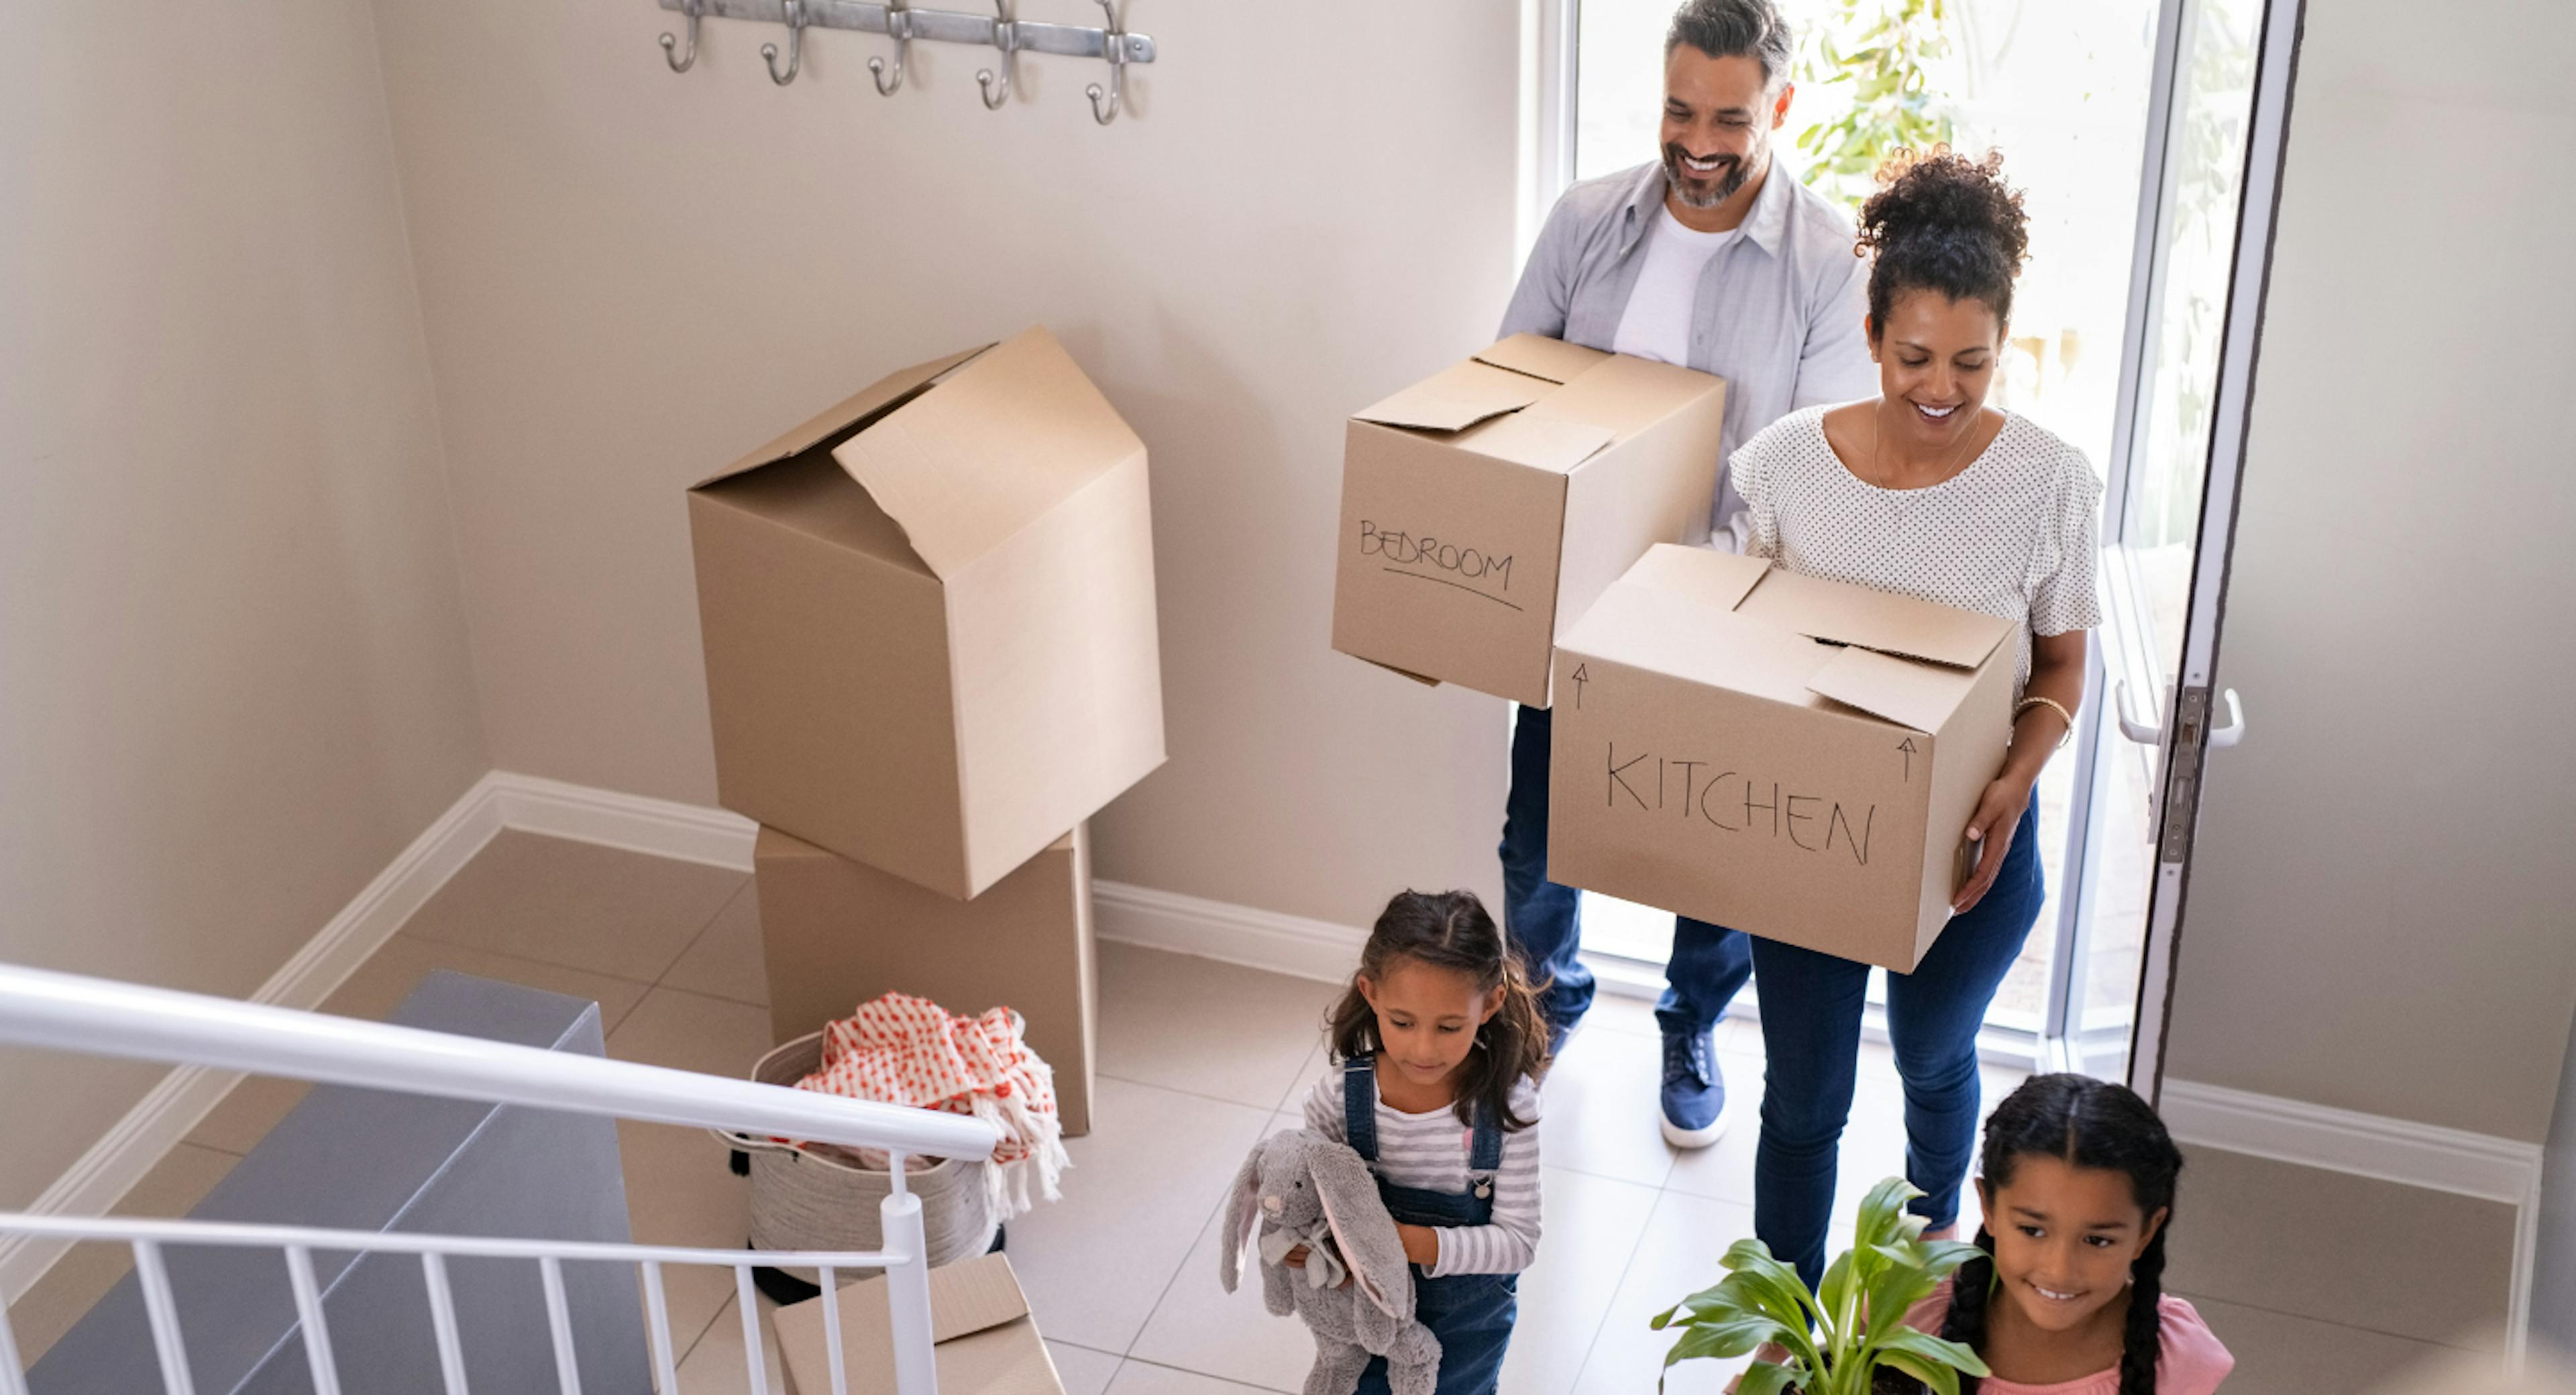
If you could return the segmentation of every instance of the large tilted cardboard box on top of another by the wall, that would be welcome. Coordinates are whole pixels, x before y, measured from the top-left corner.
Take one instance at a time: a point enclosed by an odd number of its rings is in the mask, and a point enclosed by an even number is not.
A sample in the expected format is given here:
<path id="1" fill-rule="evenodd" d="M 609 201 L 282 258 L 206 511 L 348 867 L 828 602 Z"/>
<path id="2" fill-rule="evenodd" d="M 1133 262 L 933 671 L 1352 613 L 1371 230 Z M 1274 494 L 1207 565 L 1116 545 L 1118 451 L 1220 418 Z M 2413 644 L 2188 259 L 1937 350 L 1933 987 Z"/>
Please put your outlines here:
<path id="1" fill-rule="evenodd" d="M 688 497 L 716 798 L 969 898 L 1162 764 L 1144 443 L 1046 329 Z"/>

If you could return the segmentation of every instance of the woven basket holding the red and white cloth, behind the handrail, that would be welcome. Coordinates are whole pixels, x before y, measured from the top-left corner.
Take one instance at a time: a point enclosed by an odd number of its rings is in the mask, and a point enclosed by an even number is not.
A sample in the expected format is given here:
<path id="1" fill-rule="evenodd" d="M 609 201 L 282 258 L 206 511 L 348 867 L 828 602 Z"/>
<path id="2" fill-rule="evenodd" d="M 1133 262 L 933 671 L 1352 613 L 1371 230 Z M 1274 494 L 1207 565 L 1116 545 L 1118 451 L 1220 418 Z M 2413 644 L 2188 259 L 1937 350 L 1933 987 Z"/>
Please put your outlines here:
<path id="1" fill-rule="evenodd" d="M 752 1066 L 752 1081 L 793 1086 L 822 1066 L 822 1032 L 796 1037 Z M 858 1166 L 845 1148 L 791 1148 L 775 1138 L 719 1130 L 726 1145 L 750 1158 L 752 1248 L 755 1251 L 873 1251 L 884 1246 L 876 1205 L 894 1194 L 894 1174 Z M 992 1248 L 999 1217 L 984 1192 L 981 1161 L 907 1158 L 904 1187 L 922 1199 L 922 1233 L 930 1264 L 976 1256 Z M 786 1269 L 814 1282 L 811 1269 Z M 855 1284 L 873 1271 L 835 1274 Z"/>

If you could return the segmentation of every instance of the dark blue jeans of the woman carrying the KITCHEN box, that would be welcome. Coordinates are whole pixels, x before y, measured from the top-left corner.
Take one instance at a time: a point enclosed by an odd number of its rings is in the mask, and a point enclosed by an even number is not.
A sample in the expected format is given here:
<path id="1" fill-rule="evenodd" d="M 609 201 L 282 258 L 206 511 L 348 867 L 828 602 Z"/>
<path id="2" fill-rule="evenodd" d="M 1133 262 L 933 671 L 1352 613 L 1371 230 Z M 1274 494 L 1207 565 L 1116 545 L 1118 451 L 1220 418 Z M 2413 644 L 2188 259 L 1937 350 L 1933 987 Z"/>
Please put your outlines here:
<path id="1" fill-rule="evenodd" d="M 2040 916 L 2040 806 L 2022 813 L 2004 870 L 1973 911 L 1953 916 L 1914 973 L 1888 975 L 1888 1040 L 1906 1086 L 1906 1181 L 1914 1215 L 1958 1220 L 1976 1150 L 1976 1030 Z M 1834 1161 L 1852 1117 L 1860 1009 L 1870 965 L 1754 939 L 1762 991 L 1762 1143 L 1754 1150 L 1754 1235 L 1814 1287 L 1834 1220 Z"/>

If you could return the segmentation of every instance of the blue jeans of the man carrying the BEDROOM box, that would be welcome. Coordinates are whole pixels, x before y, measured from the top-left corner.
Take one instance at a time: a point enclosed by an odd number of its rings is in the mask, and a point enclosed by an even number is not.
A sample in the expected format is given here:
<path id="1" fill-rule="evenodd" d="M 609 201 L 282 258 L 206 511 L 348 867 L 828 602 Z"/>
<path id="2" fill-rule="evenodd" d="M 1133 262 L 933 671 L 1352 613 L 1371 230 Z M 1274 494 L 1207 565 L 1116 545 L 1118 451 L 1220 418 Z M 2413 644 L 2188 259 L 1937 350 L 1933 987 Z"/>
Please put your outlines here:
<path id="1" fill-rule="evenodd" d="M 1582 898 L 1571 885 L 1548 880 L 1548 710 L 1520 708 L 1512 723 L 1512 793 L 1502 813 L 1502 924 L 1520 945 L 1530 978 L 1548 986 L 1540 1006 L 1564 1037 L 1592 1006 L 1592 970 L 1574 957 L 1584 947 Z M 1752 965 L 1744 934 L 1674 916 L 1656 1022 L 1667 1032 L 1708 1032 L 1752 978 Z"/>

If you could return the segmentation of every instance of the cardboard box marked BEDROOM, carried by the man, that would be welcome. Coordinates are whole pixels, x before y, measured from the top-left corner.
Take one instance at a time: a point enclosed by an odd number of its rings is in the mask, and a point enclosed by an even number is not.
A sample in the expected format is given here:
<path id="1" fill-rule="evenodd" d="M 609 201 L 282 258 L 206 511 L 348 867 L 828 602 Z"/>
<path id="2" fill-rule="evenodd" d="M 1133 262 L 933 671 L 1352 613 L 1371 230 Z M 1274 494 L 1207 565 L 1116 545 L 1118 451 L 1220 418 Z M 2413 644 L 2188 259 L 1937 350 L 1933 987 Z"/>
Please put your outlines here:
<path id="1" fill-rule="evenodd" d="M 1654 543 L 1708 528 L 1726 381 L 1512 335 L 1355 414 L 1332 646 L 1548 705 L 1548 654 Z"/>

